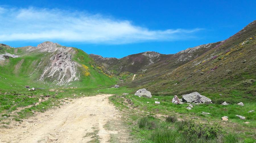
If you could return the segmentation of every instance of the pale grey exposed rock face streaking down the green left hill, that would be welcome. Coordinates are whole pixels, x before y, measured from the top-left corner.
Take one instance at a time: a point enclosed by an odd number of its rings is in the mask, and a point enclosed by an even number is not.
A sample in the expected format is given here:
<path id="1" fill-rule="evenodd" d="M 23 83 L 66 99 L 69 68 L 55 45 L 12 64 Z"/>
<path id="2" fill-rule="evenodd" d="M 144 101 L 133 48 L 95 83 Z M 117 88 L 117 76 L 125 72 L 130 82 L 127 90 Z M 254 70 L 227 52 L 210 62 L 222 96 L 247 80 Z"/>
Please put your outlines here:
<path id="1" fill-rule="evenodd" d="M 51 80 L 59 85 L 79 79 L 76 63 L 71 60 L 71 54 L 60 52 L 53 55 L 40 76 L 40 80 Z"/>

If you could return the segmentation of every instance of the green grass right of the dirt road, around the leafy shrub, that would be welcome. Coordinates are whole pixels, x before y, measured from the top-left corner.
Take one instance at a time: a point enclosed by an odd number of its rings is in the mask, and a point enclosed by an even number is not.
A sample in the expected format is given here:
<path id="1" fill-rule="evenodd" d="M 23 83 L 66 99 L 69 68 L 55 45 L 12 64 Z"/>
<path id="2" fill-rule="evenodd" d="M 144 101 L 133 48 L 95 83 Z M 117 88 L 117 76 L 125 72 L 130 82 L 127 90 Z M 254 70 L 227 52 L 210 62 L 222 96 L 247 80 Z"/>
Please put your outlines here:
<path id="1" fill-rule="evenodd" d="M 119 90 L 119 89 L 115 89 Z M 122 92 L 129 93 L 128 95 L 122 95 Z M 116 91 L 116 95 L 109 97 L 110 101 L 123 112 L 125 122 L 130 126 L 131 135 L 135 137 L 138 142 L 255 142 L 256 138 L 256 115 L 255 112 L 250 112 L 250 110 L 255 110 L 256 103 L 249 102 L 244 103 L 244 106 L 239 106 L 237 104 L 230 104 L 227 106 L 219 104 L 199 104 L 195 105 L 191 110 L 186 109 L 188 104 L 173 104 L 173 96 L 155 96 L 151 98 L 137 97 L 134 96 L 135 91 L 131 89 L 120 89 Z M 154 99 L 158 98 L 158 99 Z M 132 104 L 126 102 L 130 99 Z M 160 104 L 155 104 L 154 101 L 160 101 Z M 149 103 L 147 103 L 149 102 Z M 211 114 L 205 115 L 202 112 L 209 112 Z M 147 119 L 148 116 L 153 116 L 153 119 Z M 168 118 L 168 115 L 170 116 Z M 175 120 L 175 115 L 179 121 L 176 122 L 166 122 Z M 241 120 L 236 117 L 236 115 L 245 116 L 245 120 Z M 222 116 L 228 116 L 228 121 L 222 121 Z M 186 121 L 190 118 L 195 118 L 198 123 L 213 123 L 218 122 L 224 129 L 223 136 L 219 136 L 215 139 L 189 137 L 179 133 L 182 126 L 186 124 Z M 180 121 L 182 120 L 182 121 Z M 141 122 L 144 127 L 140 128 Z M 148 121 L 152 121 L 155 124 L 154 128 L 147 128 Z M 246 124 L 245 122 L 249 122 Z M 140 123 L 140 124 L 138 124 Z M 150 125 L 150 124 L 149 124 Z M 146 127 L 146 128 L 145 128 Z M 171 135 L 169 135 L 169 133 Z M 158 137 L 157 137 L 158 136 Z M 171 136 L 171 137 L 170 137 Z M 177 136 L 173 138 L 173 136 Z M 169 138 L 170 137 L 170 138 Z M 163 140 L 162 140 L 162 139 Z M 164 139 L 165 138 L 165 139 Z"/>

